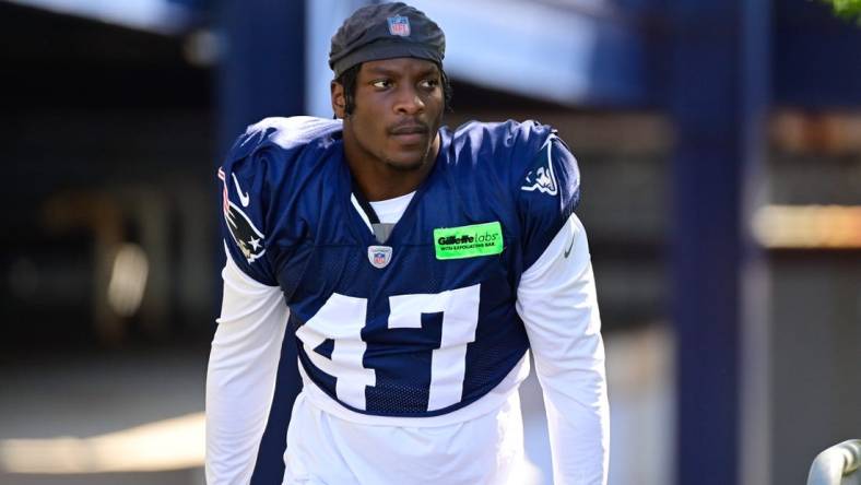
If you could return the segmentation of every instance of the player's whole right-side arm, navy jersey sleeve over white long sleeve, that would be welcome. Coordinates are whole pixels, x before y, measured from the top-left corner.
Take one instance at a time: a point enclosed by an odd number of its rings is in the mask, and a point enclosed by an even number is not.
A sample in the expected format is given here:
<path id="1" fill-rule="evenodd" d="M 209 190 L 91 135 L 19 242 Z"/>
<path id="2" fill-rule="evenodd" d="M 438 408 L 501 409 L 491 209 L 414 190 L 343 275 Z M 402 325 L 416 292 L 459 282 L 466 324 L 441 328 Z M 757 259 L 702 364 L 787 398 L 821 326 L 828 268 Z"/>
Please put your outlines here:
<path id="1" fill-rule="evenodd" d="M 554 483 L 605 484 L 610 411 L 589 244 L 574 214 L 579 169 L 555 135 L 531 165 L 519 193 L 526 271 L 517 311 L 544 393 Z"/>

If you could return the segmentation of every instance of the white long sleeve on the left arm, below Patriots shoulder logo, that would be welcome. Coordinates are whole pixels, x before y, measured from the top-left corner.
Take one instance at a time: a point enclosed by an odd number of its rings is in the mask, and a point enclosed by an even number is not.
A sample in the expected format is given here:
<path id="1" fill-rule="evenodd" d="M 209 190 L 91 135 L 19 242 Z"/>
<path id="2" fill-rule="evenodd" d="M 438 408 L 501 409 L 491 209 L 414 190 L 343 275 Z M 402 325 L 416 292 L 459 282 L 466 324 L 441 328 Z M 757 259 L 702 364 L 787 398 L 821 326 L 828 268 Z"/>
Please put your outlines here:
<path id="1" fill-rule="evenodd" d="M 227 255 L 224 300 L 207 371 L 207 483 L 248 484 L 275 389 L 288 309 Z"/>

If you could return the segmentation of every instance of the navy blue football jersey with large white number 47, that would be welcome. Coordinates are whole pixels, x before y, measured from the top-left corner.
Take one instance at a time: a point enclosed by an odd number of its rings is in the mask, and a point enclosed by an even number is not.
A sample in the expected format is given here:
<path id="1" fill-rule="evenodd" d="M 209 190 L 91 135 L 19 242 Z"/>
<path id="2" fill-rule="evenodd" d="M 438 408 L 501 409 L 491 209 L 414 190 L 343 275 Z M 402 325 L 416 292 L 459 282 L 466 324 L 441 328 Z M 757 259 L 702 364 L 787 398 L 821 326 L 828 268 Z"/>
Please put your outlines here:
<path id="1" fill-rule="evenodd" d="M 355 412 L 438 415 L 499 383 L 529 346 L 520 275 L 579 199 L 576 161 L 546 126 L 439 134 L 385 241 L 354 203 L 339 121 L 267 119 L 219 170 L 232 258 L 281 287 L 305 374 Z"/>

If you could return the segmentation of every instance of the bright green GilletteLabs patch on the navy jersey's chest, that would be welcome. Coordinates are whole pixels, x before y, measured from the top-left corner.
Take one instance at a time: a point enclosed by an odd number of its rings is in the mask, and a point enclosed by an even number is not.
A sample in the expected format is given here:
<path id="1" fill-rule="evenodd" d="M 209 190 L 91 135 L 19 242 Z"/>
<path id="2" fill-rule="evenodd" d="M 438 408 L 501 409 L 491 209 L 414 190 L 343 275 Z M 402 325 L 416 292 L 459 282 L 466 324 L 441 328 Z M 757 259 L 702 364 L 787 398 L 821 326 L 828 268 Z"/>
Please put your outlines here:
<path id="1" fill-rule="evenodd" d="M 463 259 L 503 252 L 503 226 L 498 222 L 434 229 L 436 259 Z"/>

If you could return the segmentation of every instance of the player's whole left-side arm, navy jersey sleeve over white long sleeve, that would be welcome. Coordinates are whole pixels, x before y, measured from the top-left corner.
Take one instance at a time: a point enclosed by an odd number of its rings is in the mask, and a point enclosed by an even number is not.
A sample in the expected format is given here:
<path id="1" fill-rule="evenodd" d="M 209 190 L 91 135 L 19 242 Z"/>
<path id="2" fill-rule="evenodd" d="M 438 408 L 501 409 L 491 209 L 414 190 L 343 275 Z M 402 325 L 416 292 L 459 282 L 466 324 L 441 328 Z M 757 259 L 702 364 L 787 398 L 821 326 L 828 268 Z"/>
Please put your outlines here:
<path id="1" fill-rule="evenodd" d="M 207 483 L 245 485 L 272 405 L 287 307 L 270 265 L 263 203 L 267 153 L 257 131 L 219 168 L 224 296 L 207 372 Z M 248 152 L 248 153 L 246 153 Z"/>

